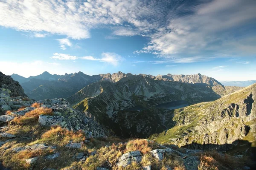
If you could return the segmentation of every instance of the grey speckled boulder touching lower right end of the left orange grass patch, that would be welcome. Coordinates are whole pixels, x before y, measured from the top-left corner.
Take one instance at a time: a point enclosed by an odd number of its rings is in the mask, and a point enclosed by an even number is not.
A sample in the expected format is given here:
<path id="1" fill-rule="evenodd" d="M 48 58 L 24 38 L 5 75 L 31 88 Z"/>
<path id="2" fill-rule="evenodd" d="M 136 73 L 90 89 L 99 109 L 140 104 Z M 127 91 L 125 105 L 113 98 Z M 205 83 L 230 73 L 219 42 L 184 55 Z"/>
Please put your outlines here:
<path id="1" fill-rule="evenodd" d="M 65 127 L 66 125 L 63 116 L 40 115 L 38 122 L 43 126 L 61 125 L 61 127 Z"/>

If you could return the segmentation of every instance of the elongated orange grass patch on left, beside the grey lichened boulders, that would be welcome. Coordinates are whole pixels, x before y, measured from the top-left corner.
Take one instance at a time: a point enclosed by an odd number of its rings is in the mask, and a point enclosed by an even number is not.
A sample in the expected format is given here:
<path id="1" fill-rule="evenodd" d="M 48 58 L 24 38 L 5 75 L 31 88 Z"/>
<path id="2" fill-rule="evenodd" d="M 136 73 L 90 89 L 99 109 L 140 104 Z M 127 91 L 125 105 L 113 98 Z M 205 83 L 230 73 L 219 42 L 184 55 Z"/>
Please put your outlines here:
<path id="1" fill-rule="evenodd" d="M 12 120 L 12 124 L 15 125 L 31 125 L 38 121 L 40 115 L 53 115 L 52 109 L 50 108 L 35 108 L 33 111 L 25 113 L 24 116 L 15 117 Z"/>

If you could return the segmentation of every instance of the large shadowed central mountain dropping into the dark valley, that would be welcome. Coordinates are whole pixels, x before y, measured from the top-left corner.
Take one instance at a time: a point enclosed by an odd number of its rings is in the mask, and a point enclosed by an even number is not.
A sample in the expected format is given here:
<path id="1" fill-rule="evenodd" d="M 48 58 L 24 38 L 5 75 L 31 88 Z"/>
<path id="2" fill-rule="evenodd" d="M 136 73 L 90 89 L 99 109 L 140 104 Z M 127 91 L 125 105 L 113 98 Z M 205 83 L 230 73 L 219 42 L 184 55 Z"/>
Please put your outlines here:
<path id="1" fill-rule="evenodd" d="M 172 126 L 172 122 L 167 121 L 170 119 L 169 111 L 161 109 L 161 105 L 176 102 L 175 106 L 181 105 L 179 103 L 186 106 L 213 101 L 241 89 L 228 88 L 227 91 L 221 84 L 211 86 L 206 83 L 157 80 L 142 74 L 113 75 L 101 76 L 104 80 L 87 85 L 67 100 L 74 108 L 125 137 L 129 137 L 128 134 L 147 137 Z M 217 81 L 209 83 L 215 84 Z"/>

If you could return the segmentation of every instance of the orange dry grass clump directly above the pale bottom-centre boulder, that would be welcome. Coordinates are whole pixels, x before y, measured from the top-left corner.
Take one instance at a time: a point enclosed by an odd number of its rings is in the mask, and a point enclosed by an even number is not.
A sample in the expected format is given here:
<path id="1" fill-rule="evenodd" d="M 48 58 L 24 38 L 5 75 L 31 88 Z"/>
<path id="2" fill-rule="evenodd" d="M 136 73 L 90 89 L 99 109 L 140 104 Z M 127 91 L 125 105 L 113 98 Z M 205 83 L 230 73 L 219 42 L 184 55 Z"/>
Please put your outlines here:
<path id="1" fill-rule="evenodd" d="M 145 154 L 150 152 L 152 148 L 153 142 L 148 142 L 146 139 L 134 139 L 127 143 L 125 152 L 140 150 L 141 153 Z"/>

